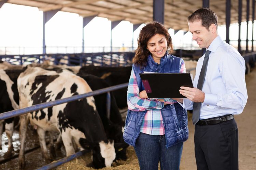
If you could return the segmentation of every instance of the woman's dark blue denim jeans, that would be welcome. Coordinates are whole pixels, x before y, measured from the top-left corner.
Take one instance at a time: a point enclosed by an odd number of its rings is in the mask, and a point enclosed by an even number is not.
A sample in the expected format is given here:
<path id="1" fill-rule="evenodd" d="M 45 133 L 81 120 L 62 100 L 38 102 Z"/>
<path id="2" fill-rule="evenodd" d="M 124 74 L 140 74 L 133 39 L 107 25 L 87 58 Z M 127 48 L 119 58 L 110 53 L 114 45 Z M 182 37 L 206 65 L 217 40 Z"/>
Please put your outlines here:
<path id="1" fill-rule="evenodd" d="M 179 170 L 182 149 L 183 142 L 167 149 L 165 135 L 144 133 L 140 133 L 134 147 L 141 170 L 158 170 L 159 161 L 161 170 Z"/>

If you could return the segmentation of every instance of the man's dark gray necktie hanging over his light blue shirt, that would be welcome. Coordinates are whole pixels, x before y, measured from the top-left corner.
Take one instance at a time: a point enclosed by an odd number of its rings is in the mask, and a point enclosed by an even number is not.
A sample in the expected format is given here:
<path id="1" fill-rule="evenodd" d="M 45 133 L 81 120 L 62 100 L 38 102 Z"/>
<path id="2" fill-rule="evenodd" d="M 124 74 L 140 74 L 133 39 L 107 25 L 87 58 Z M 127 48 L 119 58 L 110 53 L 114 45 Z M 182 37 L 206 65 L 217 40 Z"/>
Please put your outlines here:
<path id="1" fill-rule="evenodd" d="M 207 71 L 207 65 L 208 65 L 210 52 L 211 51 L 209 51 L 209 50 L 207 50 L 205 52 L 205 56 L 204 56 L 204 59 L 203 59 L 203 66 L 201 68 L 201 72 L 200 72 L 200 75 L 199 75 L 199 78 L 198 78 L 198 83 L 197 83 L 197 88 L 199 90 L 202 90 L 202 88 L 203 88 L 203 82 L 204 82 L 206 71 Z M 201 103 L 194 102 L 193 114 L 192 114 L 193 124 L 196 124 L 199 121 L 200 108 L 201 108 Z"/>

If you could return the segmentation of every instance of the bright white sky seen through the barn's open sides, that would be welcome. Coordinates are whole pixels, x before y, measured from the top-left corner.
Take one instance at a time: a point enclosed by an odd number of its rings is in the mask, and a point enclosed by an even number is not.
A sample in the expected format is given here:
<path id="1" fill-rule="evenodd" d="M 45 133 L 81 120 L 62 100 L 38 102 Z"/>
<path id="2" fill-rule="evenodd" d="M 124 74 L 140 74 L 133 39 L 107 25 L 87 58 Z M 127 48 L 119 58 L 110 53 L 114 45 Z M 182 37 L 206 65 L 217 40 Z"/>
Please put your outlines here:
<path id="1" fill-rule="evenodd" d="M 0 54 L 6 53 L 28 54 L 42 53 L 43 42 L 43 12 L 38 8 L 22 5 L 5 3 L 0 9 Z M 48 47 L 48 53 L 57 52 L 81 52 L 82 49 L 82 17 L 78 14 L 58 12 L 45 25 L 45 44 Z M 134 36 L 133 46 L 137 47 L 137 37 L 141 25 L 136 31 L 133 31 L 133 25 L 128 21 L 122 21 L 112 31 L 112 46 L 125 47 L 132 46 L 132 33 Z M 254 29 L 256 29 L 254 27 Z M 195 41 L 192 41 L 192 35 L 187 32 L 183 36 L 183 31 L 174 35 L 174 30 L 169 30 L 174 48 L 198 47 Z M 219 26 L 218 33 L 222 39 L 226 39 L 226 26 Z M 249 22 L 248 31 L 249 40 L 252 40 L 252 22 Z M 230 26 L 230 40 L 238 39 L 238 24 Z M 246 22 L 241 24 L 241 40 L 246 40 Z M 254 40 L 256 35 L 254 34 Z M 111 21 L 107 18 L 95 17 L 84 28 L 84 41 L 87 52 L 109 50 L 111 41 Z M 230 42 L 237 45 L 237 41 Z M 245 42 L 242 42 L 242 45 Z M 251 42 L 249 42 L 249 45 Z M 55 48 L 58 46 L 58 50 Z M 69 48 L 65 48 L 65 47 Z M 15 47 L 15 48 L 11 48 Z M 19 47 L 19 48 L 18 48 Z M 50 48 L 52 47 L 52 48 Z M 100 47 L 100 48 L 99 48 Z"/>

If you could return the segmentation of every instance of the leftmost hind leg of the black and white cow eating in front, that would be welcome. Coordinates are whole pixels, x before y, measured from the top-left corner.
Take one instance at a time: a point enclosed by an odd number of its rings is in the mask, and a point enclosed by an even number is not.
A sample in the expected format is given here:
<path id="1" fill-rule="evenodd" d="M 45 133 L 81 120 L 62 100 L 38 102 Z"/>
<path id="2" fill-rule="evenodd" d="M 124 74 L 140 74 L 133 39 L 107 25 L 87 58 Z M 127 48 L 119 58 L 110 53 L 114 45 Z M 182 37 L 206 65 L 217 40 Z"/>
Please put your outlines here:
<path id="1" fill-rule="evenodd" d="M 24 155 L 24 144 L 26 140 L 26 134 L 28 129 L 28 117 L 27 114 L 20 115 L 20 126 L 19 126 L 19 168 L 25 167 L 25 155 Z"/>

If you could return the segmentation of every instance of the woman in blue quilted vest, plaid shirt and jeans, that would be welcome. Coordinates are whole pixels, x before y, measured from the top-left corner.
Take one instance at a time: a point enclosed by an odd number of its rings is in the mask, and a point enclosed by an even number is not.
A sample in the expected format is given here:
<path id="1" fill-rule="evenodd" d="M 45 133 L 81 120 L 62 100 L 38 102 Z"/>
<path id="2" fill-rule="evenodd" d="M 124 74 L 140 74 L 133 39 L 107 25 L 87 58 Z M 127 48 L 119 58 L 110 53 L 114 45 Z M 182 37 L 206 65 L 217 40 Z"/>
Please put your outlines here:
<path id="1" fill-rule="evenodd" d="M 159 161 L 161 170 L 178 170 L 183 141 L 188 138 L 187 111 L 171 98 L 149 99 L 139 75 L 144 71 L 184 73 L 183 59 L 167 50 L 173 50 L 168 30 L 155 21 L 146 24 L 132 60 L 123 135 L 134 147 L 141 170 L 158 170 Z"/>

